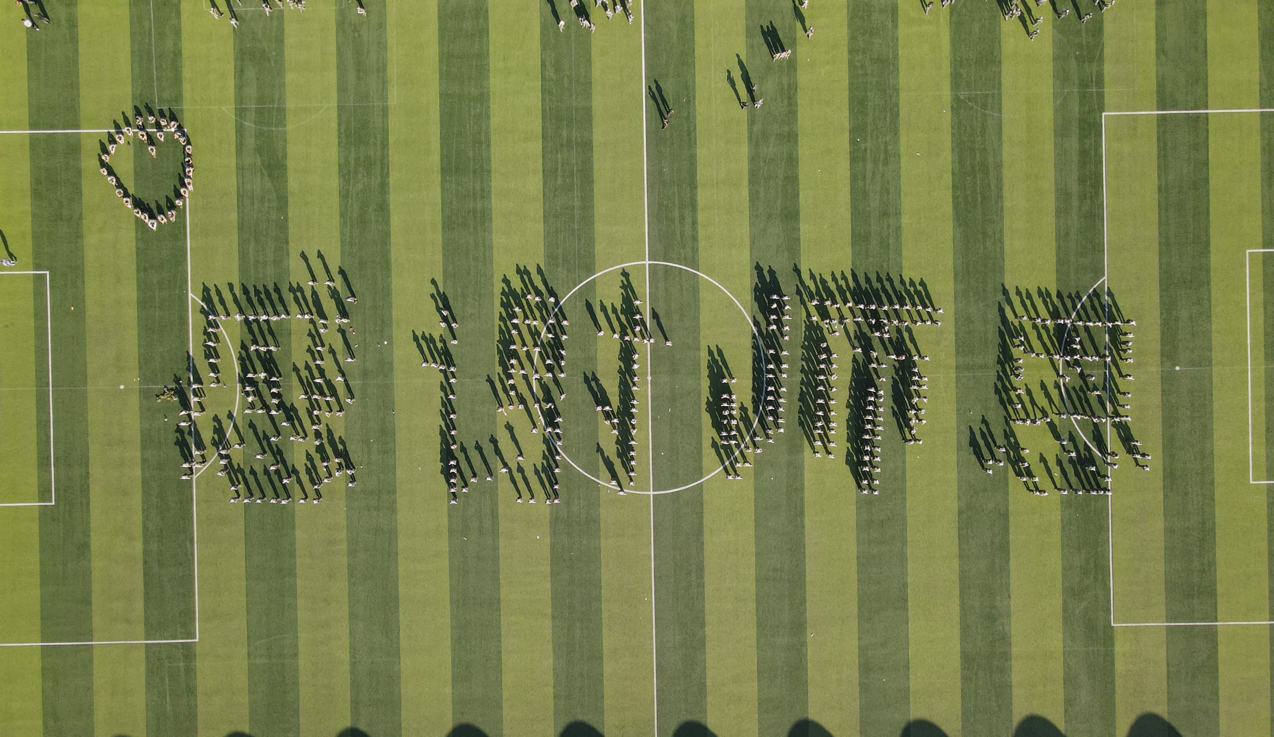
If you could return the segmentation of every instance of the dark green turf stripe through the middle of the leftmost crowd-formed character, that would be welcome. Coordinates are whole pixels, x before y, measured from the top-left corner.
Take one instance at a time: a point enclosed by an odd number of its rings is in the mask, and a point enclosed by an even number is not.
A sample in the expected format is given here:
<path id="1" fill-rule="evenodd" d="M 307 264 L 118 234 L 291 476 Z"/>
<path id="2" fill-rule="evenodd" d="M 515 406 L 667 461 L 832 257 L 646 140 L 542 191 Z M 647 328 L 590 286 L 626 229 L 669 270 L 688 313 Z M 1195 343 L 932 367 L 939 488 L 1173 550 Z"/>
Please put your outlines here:
<path id="1" fill-rule="evenodd" d="M 245 13 L 234 32 L 234 144 L 238 209 L 240 281 L 248 288 L 290 280 L 288 244 L 288 113 L 284 89 L 285 19 Z M 282 14 L 280 14 L 282 15 Z M 197 164 L 196 164 L 197 165 Z M 236 289 L 240 289 L 236 285 Z M 292 358 L 290 321 L 270 323 L 282 350 L 273 354 L 287 368 Z M 245 336 L 246 339 L 246 336 Z M 242 353 L 242 349 L 237 349 Z M 228 369 L 223 369 L 228 370 Z M 284 377 L 290 378 L 290 376 Z M 290 392 L 293 396 L 296 391 Z M 251 442 L 271 426 L 245 415 Z M 285 453 L 292 448 L 283 446 Z M 293 456 L 301 466 L 303 458 Z M 261 477 L 266 463 L 245 452 L 242 463 Z M 243 551 L 247 583 L 248 726 L 260 734 L 297 734 L 301 729 L 301 686 L 297 668 L 296 513 L 322 514 L 324 508 L 245 504 Z"/>

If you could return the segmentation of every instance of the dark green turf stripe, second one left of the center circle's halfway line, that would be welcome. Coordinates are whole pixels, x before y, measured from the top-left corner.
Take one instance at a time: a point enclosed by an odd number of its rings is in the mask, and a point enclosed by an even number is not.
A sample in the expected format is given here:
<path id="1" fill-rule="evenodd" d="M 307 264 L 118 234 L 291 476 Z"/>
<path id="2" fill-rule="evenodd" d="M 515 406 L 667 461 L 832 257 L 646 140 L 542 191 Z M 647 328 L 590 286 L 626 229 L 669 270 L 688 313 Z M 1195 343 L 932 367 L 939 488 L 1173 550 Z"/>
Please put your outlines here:
<path id="1" fill-rule="evenodd" d="M 496 335 L 488 38 L 485 1 L 438 4 L 441 283 L 460 322 L 460 344 L 452 353 L 465 377 L 493 368 Z M 485 382 L 457 383 L 455 405 L 457 439 L 489 447 L 496 423 Z M 422 442 L 437 443 L 434 438 Z M 513 454 L 508 457 L 516 472 Z M 452 719 L 501 734 L 498 498 L 479 484 L 461 502 L 450 508 L 448 526 Z"/>

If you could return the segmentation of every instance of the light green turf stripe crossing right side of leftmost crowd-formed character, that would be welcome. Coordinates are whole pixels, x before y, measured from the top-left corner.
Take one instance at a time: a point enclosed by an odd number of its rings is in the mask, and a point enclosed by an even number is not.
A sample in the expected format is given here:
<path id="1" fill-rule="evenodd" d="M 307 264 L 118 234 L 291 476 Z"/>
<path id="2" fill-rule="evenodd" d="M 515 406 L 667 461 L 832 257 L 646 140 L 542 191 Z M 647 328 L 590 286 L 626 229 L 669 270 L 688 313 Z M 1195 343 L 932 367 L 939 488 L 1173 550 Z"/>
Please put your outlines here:
<path id="1" fill-rule="evenodd" d="M 284 34 L 288 107 L 288 239 L 292 280 L 304 283 L 299 258 L 322 251 L 341 262 L 336 182 L 336 13 L 287 13 Z M 358 280 L 358 274 L 352 274 Z M 358 281 L 354 288 L 358 289 Z M 290 307 L 290 305 L 289 305 Z M 299 323 L 298 323 L 299 325 Z M 355 330 L 358 330 L 355 327 Z M 304 355 L 310 339 L 292 331 L 293 355 Z M 344 420 L 330 418 L 344 434 Z M 296 462 L 296 461 L 294 461 Z M 299 463 L 297 463 L 299 467 Z M 302 734 L 334 734 L 349 726 L 348 568 L 321 561 L 345 560 L 344 484 L 329 484 L 324 505 L 297 508 L 297 658 Z"/>

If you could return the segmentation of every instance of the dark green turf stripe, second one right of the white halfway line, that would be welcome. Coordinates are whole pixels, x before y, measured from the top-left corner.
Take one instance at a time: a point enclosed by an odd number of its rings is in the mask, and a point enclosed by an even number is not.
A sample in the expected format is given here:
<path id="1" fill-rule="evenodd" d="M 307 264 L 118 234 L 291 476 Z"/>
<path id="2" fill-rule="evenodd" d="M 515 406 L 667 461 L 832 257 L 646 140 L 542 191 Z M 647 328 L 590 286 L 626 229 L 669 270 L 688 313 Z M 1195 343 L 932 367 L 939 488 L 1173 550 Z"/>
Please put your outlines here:
<path id="1" fill-rule="evenodd" d="M 757 95 L 766 102 L 748 111 L 748 223 L 752 260 L 773 267 L 784 290 L 795 295 L 792 266 L 800 262 L 800 168 L 798 162 L 798 53 L 772 61 L 761 36 L 771 22 L 789 48 L 800 31 L 792 5 L 748 0 L 744 57 Z M 750 295 L 749 295 L 750 297 Z M 792 297 L 792 313 L 800 307 Z M 804 331 L 794 318 L 789 339 L 789 406 L 800 386 Z M 702 370 L 702 369 L 701 369 Z M 757 550 L 757 720 L 762 734 L 786 733 L 809 710 L 805 626 L 805 444 L 796 412 L 791 433 L 754 460 Z"/>

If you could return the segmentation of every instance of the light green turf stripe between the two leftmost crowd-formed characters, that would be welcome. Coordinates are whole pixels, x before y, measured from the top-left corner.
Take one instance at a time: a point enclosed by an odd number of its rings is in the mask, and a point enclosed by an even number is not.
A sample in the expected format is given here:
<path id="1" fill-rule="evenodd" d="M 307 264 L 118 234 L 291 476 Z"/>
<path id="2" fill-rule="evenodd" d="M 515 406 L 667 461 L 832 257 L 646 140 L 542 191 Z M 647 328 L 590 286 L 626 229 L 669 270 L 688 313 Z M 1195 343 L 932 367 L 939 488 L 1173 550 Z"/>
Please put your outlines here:
<path id="1" fill-rule="evenodd" d="M 397 448 L 399 629 L 403 732 L 451 728 L 451 594 L 447 495 L 437 472 L 438 374 L 420 368 L 412 331 L 437 331 L 427 295 L 442 275 L 438 171 L 438 14 L 428 3 L 389 13 L 390 230 L 394 248 L 395 432 Z"/>

